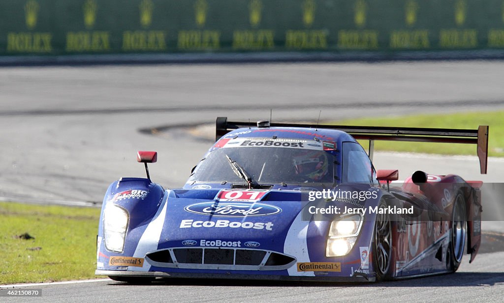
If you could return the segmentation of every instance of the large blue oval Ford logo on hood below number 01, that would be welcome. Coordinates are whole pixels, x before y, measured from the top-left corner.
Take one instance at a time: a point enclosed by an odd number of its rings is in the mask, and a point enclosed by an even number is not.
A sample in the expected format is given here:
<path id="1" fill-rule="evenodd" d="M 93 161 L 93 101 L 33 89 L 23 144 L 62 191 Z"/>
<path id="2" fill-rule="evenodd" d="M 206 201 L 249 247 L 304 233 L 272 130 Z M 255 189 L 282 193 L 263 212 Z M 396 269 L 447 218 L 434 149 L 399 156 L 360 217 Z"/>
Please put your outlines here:
<path id="1" fill-rule="evenodd" d="M 263 203 L 202 202 L 184 207 L 184 211 L 215 217 L 258 217 L 275 215 L 282 210 Z"/>

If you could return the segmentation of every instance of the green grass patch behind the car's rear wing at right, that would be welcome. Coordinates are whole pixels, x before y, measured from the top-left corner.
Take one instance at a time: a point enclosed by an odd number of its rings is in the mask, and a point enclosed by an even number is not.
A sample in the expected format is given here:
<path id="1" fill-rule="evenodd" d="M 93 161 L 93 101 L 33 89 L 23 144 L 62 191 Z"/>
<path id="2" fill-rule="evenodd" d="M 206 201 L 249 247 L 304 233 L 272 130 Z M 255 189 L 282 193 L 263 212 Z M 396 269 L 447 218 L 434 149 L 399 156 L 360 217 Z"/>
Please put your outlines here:
<path id="1" fill-rule="evenodd" d="M 391 118 L 362 118 L 334 122 L 335 125 L 394 126 L 426 128 L 477 129 L 489 126 L 488 155 L 504 157 L 504 111 L 474 112 L 444 115 L 415 115 Z M 360 142 L 367 150 L 367 141 Z M 431 153 L 446 155 L 476 155 L 476 145 L 449 143 L 418 143 L 375 141 L 374 150 Z"/>

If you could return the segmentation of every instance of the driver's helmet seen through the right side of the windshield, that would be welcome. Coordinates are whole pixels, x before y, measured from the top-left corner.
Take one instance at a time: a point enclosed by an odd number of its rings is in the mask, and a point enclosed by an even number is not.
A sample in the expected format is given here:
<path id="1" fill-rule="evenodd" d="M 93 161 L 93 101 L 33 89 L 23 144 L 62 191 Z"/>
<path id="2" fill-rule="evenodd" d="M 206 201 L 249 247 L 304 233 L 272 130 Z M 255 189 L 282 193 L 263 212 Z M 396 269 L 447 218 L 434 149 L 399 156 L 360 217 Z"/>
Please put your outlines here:
<path id="1" fill-rule="evenodd" d="M 328 158 L 324 151 L 307 151 L 292 159 L 296 175 L 320 181 L 328 172 Z"/>

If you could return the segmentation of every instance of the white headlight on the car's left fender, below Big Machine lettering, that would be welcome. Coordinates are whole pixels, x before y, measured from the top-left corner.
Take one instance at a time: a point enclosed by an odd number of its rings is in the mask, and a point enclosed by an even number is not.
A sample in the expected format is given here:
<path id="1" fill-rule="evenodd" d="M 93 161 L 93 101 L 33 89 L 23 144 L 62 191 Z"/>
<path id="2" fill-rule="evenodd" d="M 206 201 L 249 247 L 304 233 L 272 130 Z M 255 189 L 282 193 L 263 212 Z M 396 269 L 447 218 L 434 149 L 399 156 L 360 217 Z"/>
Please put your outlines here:
<path id="1" fill-rule="evenodd" d="M 116 205 L 107 205 L 103 212 L 103 232 L 107 250 L 122 253 L 130 216 Z"/>

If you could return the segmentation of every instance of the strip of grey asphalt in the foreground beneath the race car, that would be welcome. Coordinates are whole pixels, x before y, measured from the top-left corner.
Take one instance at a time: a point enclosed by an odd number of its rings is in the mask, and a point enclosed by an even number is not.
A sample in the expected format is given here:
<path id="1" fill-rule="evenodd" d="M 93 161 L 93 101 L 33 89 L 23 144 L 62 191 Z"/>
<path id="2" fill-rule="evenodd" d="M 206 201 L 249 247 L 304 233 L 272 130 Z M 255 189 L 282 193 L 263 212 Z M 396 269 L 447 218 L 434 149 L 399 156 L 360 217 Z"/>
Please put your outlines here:
<path id="1" fill-rule="evenodd" d="M 41 297 L 6 302 L 502 302 L 504 252 L 462 263 L 455 274 L 369 284 L 178 279 L 151 285 L 112 280 L 44 285 Z"/>

